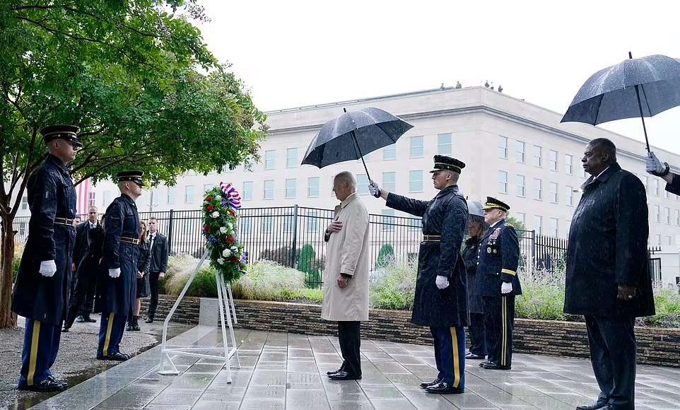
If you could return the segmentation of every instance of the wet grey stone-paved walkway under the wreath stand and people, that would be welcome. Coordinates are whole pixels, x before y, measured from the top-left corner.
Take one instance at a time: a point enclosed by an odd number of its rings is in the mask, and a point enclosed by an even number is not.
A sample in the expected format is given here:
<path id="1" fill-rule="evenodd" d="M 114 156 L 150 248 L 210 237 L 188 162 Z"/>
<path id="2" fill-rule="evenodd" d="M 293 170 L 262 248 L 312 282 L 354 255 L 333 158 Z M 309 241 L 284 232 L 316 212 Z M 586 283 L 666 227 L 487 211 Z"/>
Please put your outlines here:
<path id="1" fill-rule="evenodd" d="M 436 375 L 430 346 L 362 341 L 363 380 L 333 382 L 337 338 L 239 329 L 242 367 L 227 383 L 211 359 L 175 359 L 177 376 L 156 373 L 160 346 L 117 365 L 32 409 L 574 409 L 598 393 L 590 361 L 517 354 L 510 371 L 468 361 L 464 394 L 428 394 L 418 383 Z M 216 346 L 220 332 L 194 327 L 173 345 Z M 233 362 L 234 363 L 234 362 Z M 640 365 L 636 409 L 680 409 L 680 369 Z"/>

